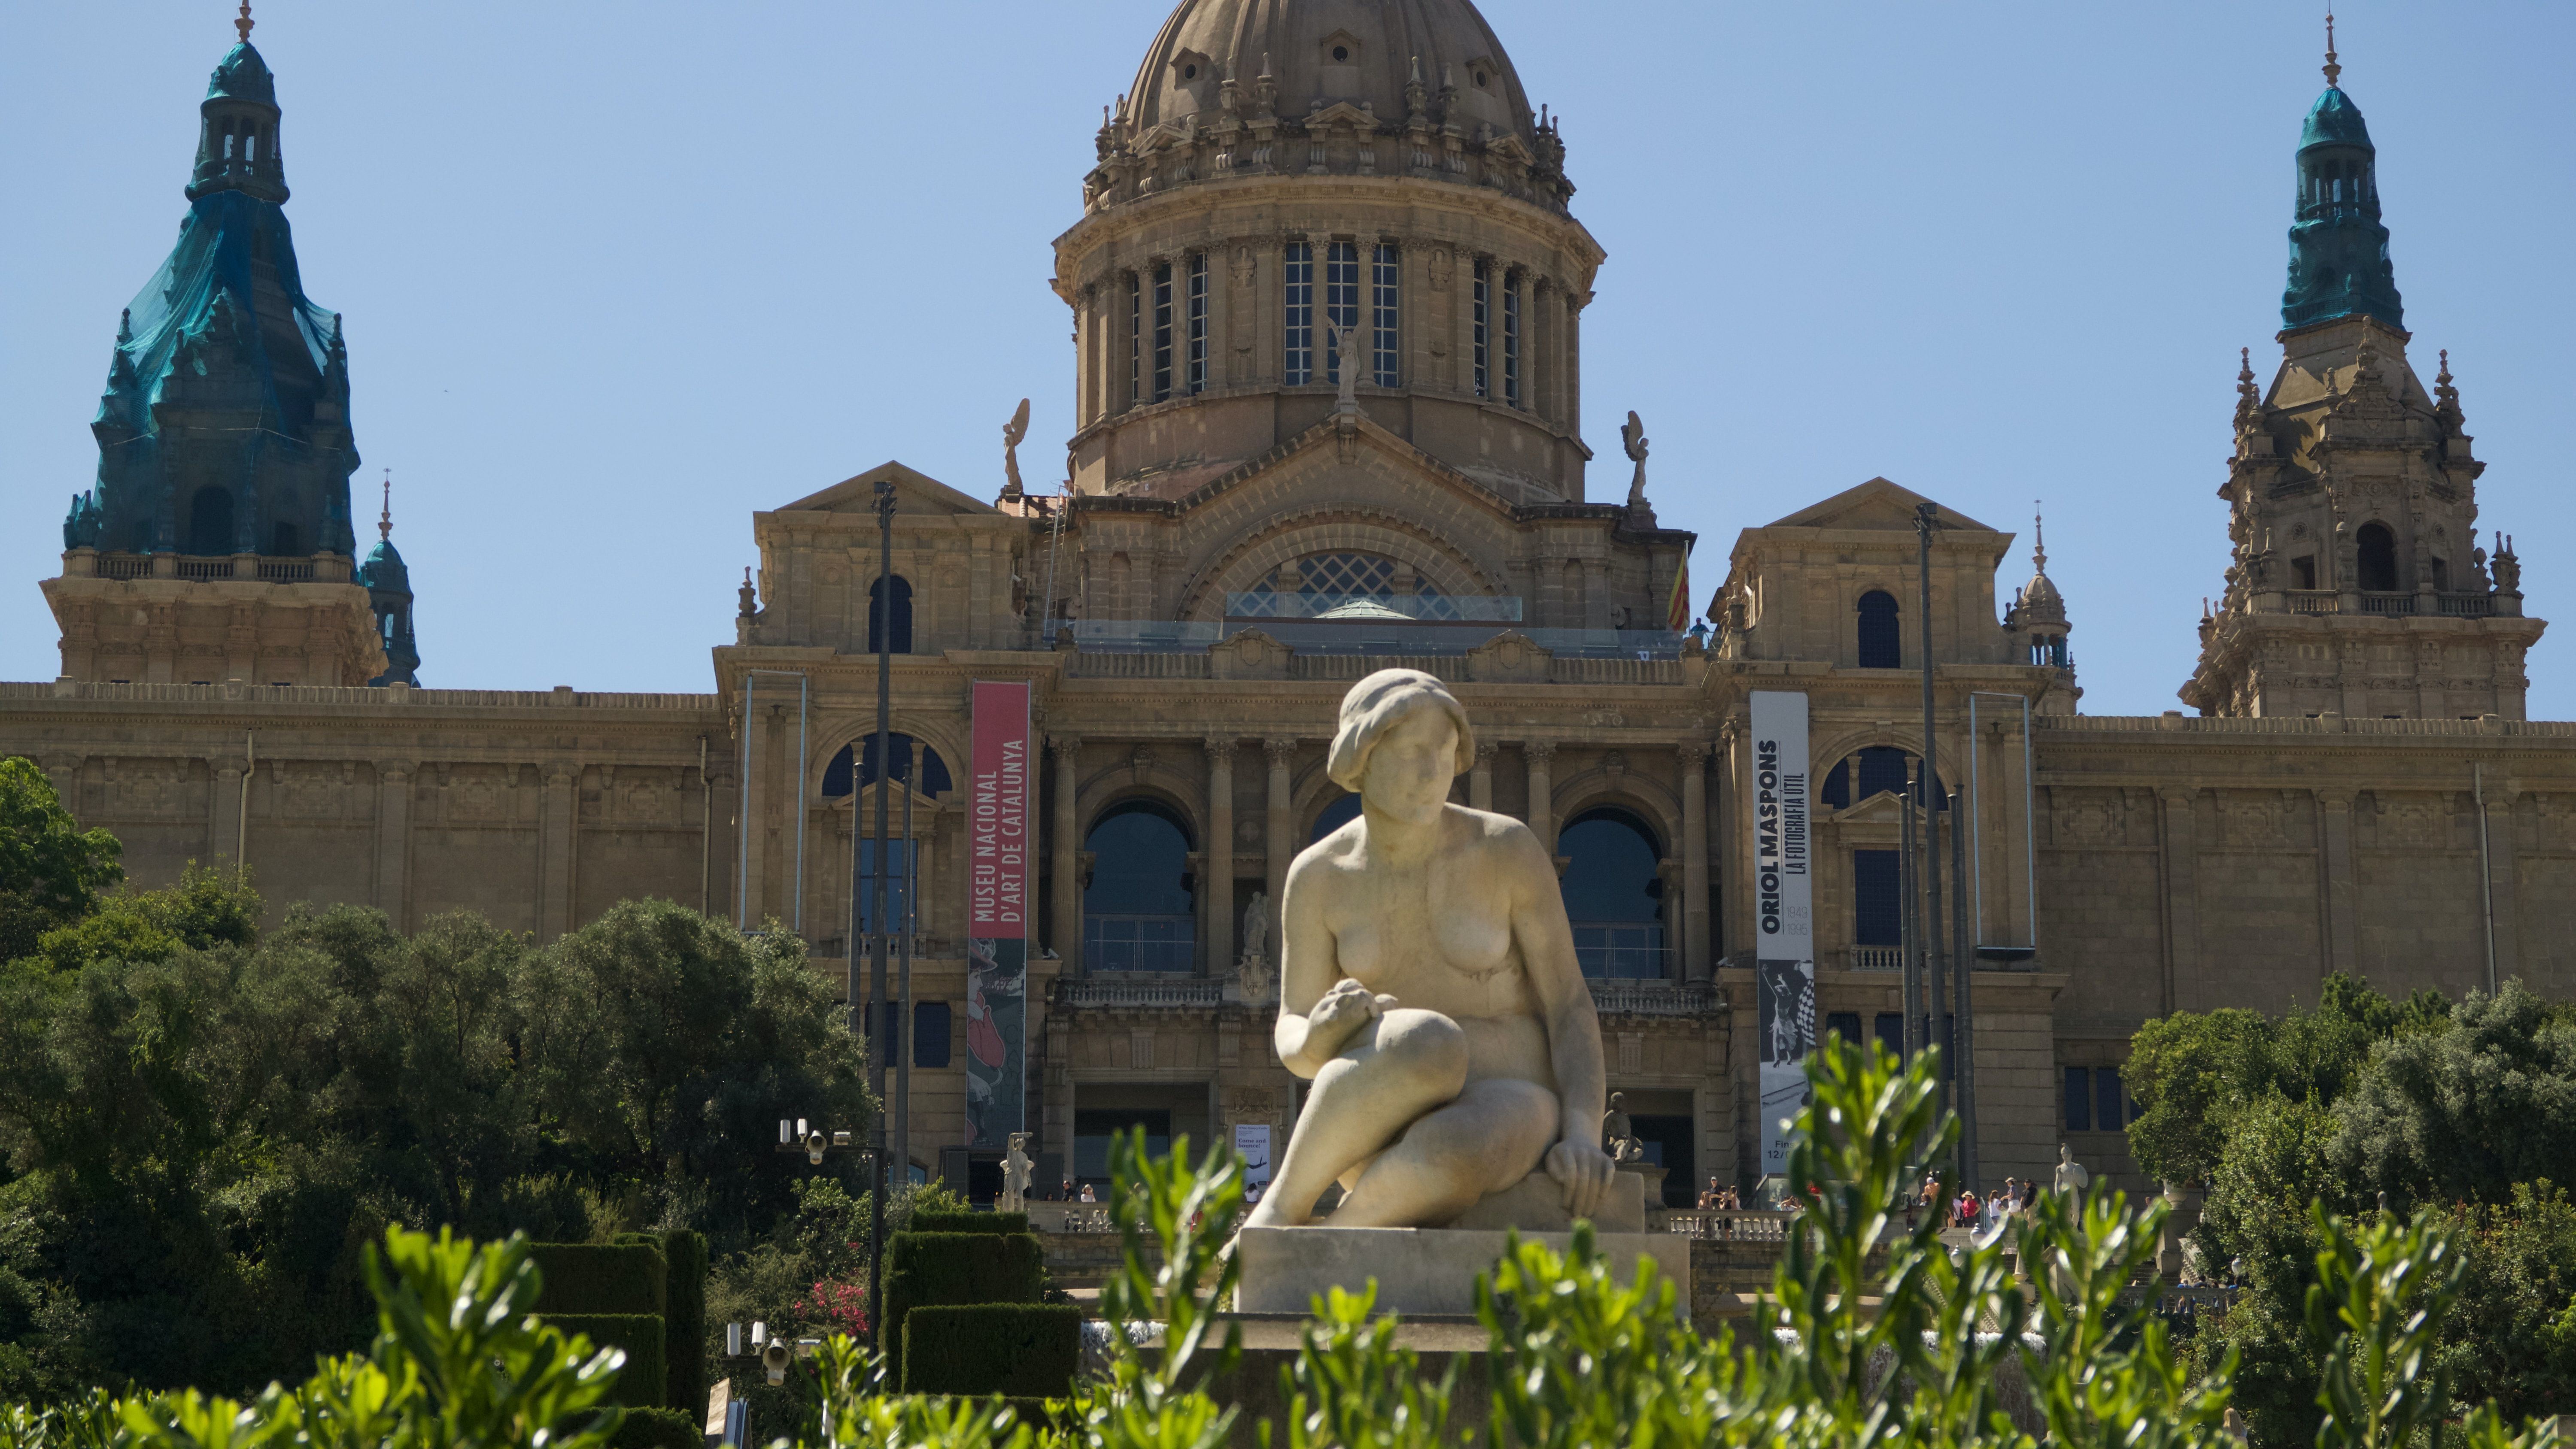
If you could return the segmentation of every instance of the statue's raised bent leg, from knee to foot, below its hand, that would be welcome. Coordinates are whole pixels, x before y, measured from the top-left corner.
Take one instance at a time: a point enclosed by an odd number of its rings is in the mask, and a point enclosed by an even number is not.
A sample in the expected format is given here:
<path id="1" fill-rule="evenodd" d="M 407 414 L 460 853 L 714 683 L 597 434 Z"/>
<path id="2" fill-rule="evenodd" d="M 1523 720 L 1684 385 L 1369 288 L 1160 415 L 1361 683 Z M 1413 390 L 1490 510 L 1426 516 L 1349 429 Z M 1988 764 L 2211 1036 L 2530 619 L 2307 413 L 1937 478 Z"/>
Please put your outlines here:
<path id="1" fill-rule="evenodd" d="M 1466 1060 L 1466 1032 L 1440 1011 L 1396 1006 L 1360 1027 L 1342 1055 L 1314 1073 L 1278 1176 L 1244 1223 L 1293 1228 L 1314 1217 L 1314 1199 L 1329 1181 L 1458 1096 Z"/>

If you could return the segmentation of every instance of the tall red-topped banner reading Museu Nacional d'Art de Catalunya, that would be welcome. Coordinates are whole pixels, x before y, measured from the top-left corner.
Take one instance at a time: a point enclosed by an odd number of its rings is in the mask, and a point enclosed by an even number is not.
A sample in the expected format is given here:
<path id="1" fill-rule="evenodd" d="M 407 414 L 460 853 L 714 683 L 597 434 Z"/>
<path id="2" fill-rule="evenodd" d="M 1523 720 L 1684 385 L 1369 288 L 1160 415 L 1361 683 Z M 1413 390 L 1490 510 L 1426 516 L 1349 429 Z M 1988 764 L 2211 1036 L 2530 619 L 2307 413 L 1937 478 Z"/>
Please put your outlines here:
<path id="1" fill-rule="evenodd" d="M 966 785 L 966 1145 L 1002 1150 L 1028 1107 L 1028 685 L 974 687 Z"/>

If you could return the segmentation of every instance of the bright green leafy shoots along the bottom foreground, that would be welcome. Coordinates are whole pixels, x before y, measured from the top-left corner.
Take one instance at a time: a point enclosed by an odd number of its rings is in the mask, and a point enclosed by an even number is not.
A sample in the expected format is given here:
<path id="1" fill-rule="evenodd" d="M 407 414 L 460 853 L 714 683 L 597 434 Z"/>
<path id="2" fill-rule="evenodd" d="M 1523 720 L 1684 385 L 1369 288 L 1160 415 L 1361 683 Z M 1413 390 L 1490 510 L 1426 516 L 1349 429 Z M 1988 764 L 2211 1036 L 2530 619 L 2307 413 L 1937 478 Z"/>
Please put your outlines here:
<path id="1" fill-rule="evenodd" d="M 1466 1413 L 1455 1374 L 1430 1380 L 1368 1295 L 1316 1305 L 1283 1369 L 1288 1416 L 1260 1439 L 1285 1449 L 1765 1446 L 1765 1449 L 2032 1449 L 2038 1434 L 2084 1449 L 2228 1449 L 2231 1364 L 2184 1372 L 2141 1307 L 2130 1271 L 2156 1243 L 2161 1204 L 2117 1194 L 2081 1207 L 2043 1202 L 2020 1235 L 2032 1279 L 2004 1271 L 2002 1246 L 1953 1256 L 1929 1228 L 1901 1228 L 1904 1163 L 1955 1125 L 1937 1120 L 1932 1073 L 1909 1073 L 1870 1045 L 1837 1045 L 1808 1066 L 1814 1104 L 1790 1158 L 1790 1186 L 1816 1207 L 1757 1307 L 1752 1333 L 1690 1331 L 1674 1284 L 1651 1264 L 1620 1274 L 1589 1228 L 1566 1253 L 1515 1243 L 1479 1287 L 1492 1400 Z M 1123 1341 L 1105 1380 L 1074 1385 L 1043 1423 L 1002 1400 L 884 1392 L 873 1354 L 829 1338 L 811 1361 L 811 1421 L 799 1441 L 832 1449 L 1216 1449 L 1234 1410 L 1208 1398 L 1236 1364 L 1216 1315 L 1231 1287 L 1221 1251 L 1242 1210 L 1242 1174 L 1211 1153 L 1195 1171 L 1141 1140 L 1115 1148 L 1128 1261 L 1105 1292 L 1113 1318 L 1164 1325 L 1162 1351 Z M 2434 1367 L 2460 1256 L 2439 1215 L 2313 1217 L 2308 1325 L 2324 1343 L 2313 1382 L 2318 1449 L 2540 1449 L 2494 1408 L 2455 1416 Z M 1162 1246 L 1149 1266 L 1144 1235 Z M 363 1359 L 325 1361 L 304 1387 L 250 1405 L 196 1392 L 70 1408 L 0 1410 L 0 1449 L 201 1449 L 330 1444 L 350 1449 L 595 1449 L 616 1431 L 603 1410 L 613 1354 L 528 1323 L 536 1300 L 518 1241 L 466 1243 L 389 1233 L 371 1256 L 381 1333 Z M 1862 1297 L 1875 1305 L 1865 1305 Z M 1875 1313 L 1870 1310 L 1875 1307 Z M 2020 1385 L 2020 1387 L 2014 1387 Z M 2020 1418 L 2007 1398 L 2027 1392 Z M 1468 1418 L 1484 1418 L 1468 1428 Z M 778 1426 L 765 1426 L 778 1428 Z M 783 1439 L 786 1441 L 786 1439 Z"/>

